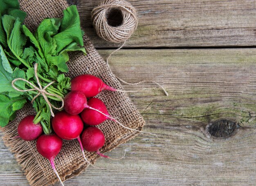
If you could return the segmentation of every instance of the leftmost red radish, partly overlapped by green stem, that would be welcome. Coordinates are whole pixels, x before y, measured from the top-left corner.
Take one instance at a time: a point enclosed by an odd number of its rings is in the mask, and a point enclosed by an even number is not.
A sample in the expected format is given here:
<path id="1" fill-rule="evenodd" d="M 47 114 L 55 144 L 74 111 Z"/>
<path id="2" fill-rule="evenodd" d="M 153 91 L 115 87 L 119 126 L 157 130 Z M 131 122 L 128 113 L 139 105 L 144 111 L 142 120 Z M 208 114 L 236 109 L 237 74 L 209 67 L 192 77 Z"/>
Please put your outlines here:
<path id="1" fill-rule="evenodd" d="M 23 140 L 36 140 L 42 133 L 43 127 L 40 123 L 34 124 L 35 115 L 28 115 L 24 117 L 18 124 L 18 136 Z"/>

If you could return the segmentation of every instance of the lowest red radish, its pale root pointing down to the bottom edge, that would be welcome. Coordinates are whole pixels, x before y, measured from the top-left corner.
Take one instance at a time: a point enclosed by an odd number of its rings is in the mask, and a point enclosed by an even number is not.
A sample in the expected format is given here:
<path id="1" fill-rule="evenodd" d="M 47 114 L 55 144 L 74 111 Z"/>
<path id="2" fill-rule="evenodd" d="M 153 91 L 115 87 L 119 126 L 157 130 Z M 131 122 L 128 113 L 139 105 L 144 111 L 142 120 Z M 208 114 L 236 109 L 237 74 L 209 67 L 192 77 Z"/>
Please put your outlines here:
<path id="1" fill-rule="evenodd" d="M 62 140 L 56 134 L 41 135 L 40 137 L 38 137 L 38 140 L 36 141 L 36 149 L 38 153 L 40 153 L 40 155 L 42 155 L 43 157 L 49 159 L 52 169 L 54 170 L 54 173 L 57 175 L 62 186 L 64 186 L 54 165 L 54 158 L 61 151 L 61 147 Z"/>

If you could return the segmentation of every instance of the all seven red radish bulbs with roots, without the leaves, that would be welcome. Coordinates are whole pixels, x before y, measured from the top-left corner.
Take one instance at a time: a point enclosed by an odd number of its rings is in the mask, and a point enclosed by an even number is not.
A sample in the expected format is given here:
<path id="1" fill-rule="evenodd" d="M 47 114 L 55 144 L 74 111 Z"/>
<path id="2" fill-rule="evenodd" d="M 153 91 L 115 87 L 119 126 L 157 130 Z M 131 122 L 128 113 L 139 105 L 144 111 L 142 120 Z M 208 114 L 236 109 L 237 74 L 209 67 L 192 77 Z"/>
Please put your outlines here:
<path id="1" fill-rule="evenodd" d="M 71 92 L 65 96 L 64 110 L 57 112 L 52 118 L 52 128 L 55 134 L 42 135 L 42 125 L 33 123 L 34 115 L 24 117 L 18 125 L 18 137 L 27 141 L 37 139 L 36 148 L 38 152 L 49 160 L 62 185 L 63 183 L 54 165 L 54 158 L 62 148 L 62 139 L 77 139 L 85 161 L 90 164 L 85 157 L 84 149 L 88 152 L 96 152 L 102 157 L 110 158 L 99 151 L 105 144 L 105 136 L 99 128 L 95 127 L 96 125 L 105 120 L 112 120 L 126 129 L 138 131 L 124 126 L 114 117 L 111 117 L 106 105 L 100 99 L 93 97 L 103 90 L 119 91 L 104 84 L 100 78 L 93 75 L 79 75 L 71 80 Z M 87 100 L 88 97 L 91 98 Z M 83 130 L 84 124 L 89 127 Z"/>

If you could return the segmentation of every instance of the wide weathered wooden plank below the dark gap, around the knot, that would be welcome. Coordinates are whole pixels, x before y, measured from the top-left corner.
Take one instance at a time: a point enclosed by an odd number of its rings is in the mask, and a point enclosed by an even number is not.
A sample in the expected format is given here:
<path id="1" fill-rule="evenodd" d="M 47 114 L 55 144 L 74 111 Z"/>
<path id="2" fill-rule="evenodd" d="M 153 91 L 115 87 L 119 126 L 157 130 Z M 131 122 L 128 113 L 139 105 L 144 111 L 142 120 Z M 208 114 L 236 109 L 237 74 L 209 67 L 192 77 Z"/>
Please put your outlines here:
<path id="1" fill-rule="evenodd" d="M 100 50 L 106 56 L 112 50 Z M 129 82 L 155 80 L 159 89 L 129 93 L 146 120 L 141 134 L 101 158 L 97 166 L 66 186 L 199 185 L 236 186 L 256 182 L 256 49 L 121 50 L 110 66 Z M 124 85 L 126 90 L 154 86 Z M 239 126 L 230 137 L 210 137 L 207 124 L 229 119 Z M 13 155 L 0 141 L 0 185 L 26 186 Z M 58 185 L 58 184 L 56 184 Z"/>

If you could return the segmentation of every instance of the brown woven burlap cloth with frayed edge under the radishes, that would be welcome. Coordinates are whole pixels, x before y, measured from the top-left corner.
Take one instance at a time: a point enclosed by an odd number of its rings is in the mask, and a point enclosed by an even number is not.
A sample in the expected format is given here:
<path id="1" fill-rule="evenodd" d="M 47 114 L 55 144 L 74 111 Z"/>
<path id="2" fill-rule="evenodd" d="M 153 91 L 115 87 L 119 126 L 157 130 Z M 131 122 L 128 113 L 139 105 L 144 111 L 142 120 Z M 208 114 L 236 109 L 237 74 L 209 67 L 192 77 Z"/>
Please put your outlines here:
<path id="1" fill-rule="evenodd" d="M 67 6 L 65 0 L 20 0 L 21 9 L 27 12 L 25 24 L 31 31 L 34 31 L 44 18 L 61 17 L 63 9 Z M 94 49 L 86 35 L 84 36 L 84 44 L 88 54 L 85 56 L 81 52 L 70 53 L 70 61 L 68 62 L 70 71 L 67 75 L 73 78 L 76 75 L 89 73 L 101 78 L 103 82 L 110 86 L 122 89 L 121 84 Z M 105 102 L 110 115 L 118 117 L 124 125 L 130 128 L 141 130 L 144 120 L 126 93 L 103 91 L 98 97 Z M 21 139 L 9 139 L 18 135 L 17 126 L 19 121 L 29 114 L 34 114 L 31 104 L 27 104 L 18 111 L 16 119 L 2 128 L 4 144 L 14 153 L 30 185 L 46 186 L 54 184 L 58 182 L 58 179 L 52 171 L 49 161 L 36 151 L 36 141 L 26 142 Z M 106 137 L 106 144 L 101 149 L 103 153 L 111 151 L 138 134 L 126 130 L 112 121 L 106 121 L 98 127 Z M 96 153 L 85 151 L 85 155 L 92 163 L 95 163 L 96 159 L 99 158 Z M 63 140 L 63 147 L 55 158 L 55 164 L 62 180 L 78 175 L 88 166 L 83 159 L 77 140 Z"/>

